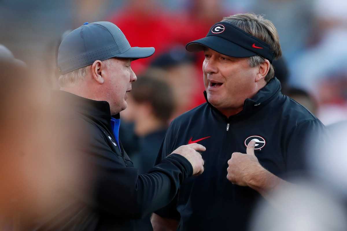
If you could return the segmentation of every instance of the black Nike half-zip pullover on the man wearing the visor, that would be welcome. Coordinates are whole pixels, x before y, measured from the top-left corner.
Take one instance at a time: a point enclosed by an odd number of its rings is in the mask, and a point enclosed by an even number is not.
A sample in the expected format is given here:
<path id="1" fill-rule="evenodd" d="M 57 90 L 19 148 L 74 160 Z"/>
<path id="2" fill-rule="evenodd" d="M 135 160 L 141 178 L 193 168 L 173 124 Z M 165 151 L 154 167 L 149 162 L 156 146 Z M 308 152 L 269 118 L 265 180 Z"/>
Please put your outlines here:
<path id="1" fill-rule="evenodd" d="M 262 197 L 249 187 L 230 183 L 227 161 L 233 152 L 246 153 L 249 136 L 261 136 L 266 141 L 255 155 L 274 175 L 288 180 L 293 174 L 304 174 L 305 155 L 314 155 L 310 135 L 314 133 L 315 142 L 323 142 L 326 129 L 280 90 L 279 81 L 273 78 L 252 99 L 245 100 L 242 112 L 229 118 L 208 102 L 176 118 L 156 162 L 190 139 L 208 137 L 198 142 L 206 147 L 202 153 L 205 171 L 185 179 L 175 199 L 156 213 L 179 220 L 180 231 L 247 230 L 253 208 Z"/>

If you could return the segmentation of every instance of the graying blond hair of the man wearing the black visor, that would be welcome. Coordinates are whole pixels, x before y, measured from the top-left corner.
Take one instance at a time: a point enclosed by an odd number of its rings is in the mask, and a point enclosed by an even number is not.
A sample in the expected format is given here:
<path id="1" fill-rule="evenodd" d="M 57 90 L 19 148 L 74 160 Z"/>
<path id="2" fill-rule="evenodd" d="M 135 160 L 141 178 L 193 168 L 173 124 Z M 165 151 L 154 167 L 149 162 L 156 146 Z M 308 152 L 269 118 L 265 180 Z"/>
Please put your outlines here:
<path id="1" fill-rule="evenodd" d="M 236 14 L 224 17 L 222 21 L 237 26 L 248 34 L 251 34 L 269 44 L 271 50 L 274 52 L 274 59 L 278 59 L 282 56 L 277 30 L 270 20 L 264 19 L 263 15 L 255 15 L 253 13 Z M 248 60 L 251 67 L 260 65 L 263 62 L 265 62 L 265 59 L 260 55 L 251 56 Z M 270 70 L 265 76 L 265 81 L 269 82 L 273 76 L 274 69 L 270 63 Z"/>

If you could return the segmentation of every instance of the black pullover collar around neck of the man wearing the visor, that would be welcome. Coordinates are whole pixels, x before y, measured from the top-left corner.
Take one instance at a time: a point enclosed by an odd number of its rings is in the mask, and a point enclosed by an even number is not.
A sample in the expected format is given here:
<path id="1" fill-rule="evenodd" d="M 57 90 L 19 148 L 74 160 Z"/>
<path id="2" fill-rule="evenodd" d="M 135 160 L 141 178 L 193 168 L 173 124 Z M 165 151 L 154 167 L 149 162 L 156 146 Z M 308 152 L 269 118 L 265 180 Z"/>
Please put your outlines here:
<path id="1" fill-rule="evenodd" d="M 274 98 L 274 96 L 280 94 L 280 92 L 281 92 L 281 83 L 276 77 L 274 77 L 268 82 L 268 84 L 266 84 L 265 87 L 260 89 L 254 97 L 245 99 L 243 110 L 237 113 L 236 115 L 230 116 L 229 119 L 236 118 L 239 116 L 246 116 L 251 113 L 254 113 L 256 110 L 259 110 L 260 108 L 268 104 L 271 101 L 271 99 Z M 205 96 L 206 102 L 214 110 L 217 110 L 218 113 L 222 114 L 221 112 L 219 112 L 217 108 L 213 107 L 212 104 L 209 103 L 207 99 L 206 91 L 204 91 L 204 96 Z"/>

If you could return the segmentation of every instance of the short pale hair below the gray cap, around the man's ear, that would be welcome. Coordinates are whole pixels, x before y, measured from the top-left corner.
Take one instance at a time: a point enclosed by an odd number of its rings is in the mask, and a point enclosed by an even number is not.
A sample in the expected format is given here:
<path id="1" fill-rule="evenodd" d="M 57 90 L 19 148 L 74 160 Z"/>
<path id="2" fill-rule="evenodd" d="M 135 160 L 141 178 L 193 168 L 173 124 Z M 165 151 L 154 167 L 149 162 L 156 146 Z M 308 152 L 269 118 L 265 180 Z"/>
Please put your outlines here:
<path id="1" fill-rule="evenodd" d="M 112 65 L 111 59 L 107 59 L 102 62 L 106 65 L 107 68 L 109 68 Z M 84 80 L 91 66 L 92 65 L 84 66 L 83 68 L 60 75 L 59 77 L 60 87 L 74 86 L 76 83 L 79 83 L 82 80 Z"/>

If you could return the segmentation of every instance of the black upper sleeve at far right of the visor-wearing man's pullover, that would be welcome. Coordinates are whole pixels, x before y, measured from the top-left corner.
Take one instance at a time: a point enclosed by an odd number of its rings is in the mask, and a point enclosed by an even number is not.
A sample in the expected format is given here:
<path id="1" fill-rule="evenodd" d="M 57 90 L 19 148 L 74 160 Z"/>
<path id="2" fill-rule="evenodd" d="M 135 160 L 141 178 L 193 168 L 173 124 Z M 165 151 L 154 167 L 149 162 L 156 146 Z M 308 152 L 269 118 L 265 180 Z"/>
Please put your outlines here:
<path id="1" fill-rule="evenodd" d="M 304 121 L 294 128 L 287 146 L 286 177 L 308 173 L 308 161 L 319 147 L 330 140 L 329 133 L 319 119 Z"/>

